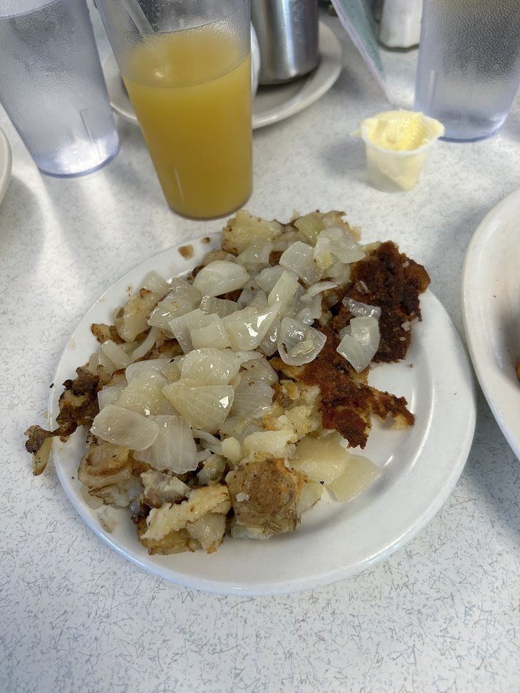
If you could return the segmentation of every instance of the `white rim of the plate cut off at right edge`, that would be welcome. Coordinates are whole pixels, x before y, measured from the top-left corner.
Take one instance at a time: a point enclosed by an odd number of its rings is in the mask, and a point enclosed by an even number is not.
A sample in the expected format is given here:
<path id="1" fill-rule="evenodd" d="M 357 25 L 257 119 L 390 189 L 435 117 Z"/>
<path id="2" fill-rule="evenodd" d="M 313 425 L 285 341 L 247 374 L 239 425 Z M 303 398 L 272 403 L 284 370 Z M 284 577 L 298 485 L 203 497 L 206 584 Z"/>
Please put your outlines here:
<path id="1" fill-rule="evenodd" d="M 489 209 L 483 219 L 480 220 L 473 236 L 471 236 L 462 265 L 461 297 L 462 322 L 464 324 L 469 355 L 478 383 L 489 405 L 489 409 L 492 411 L 494 419 L 496 423 L 498 423 L 505 439 L 508 441 L 512 452 L 517 459 L 520 459 L 520 430 L 516 436 L 512 432 L 511 426 L 508 424 L 506 420 L 507 417 L 504 414 L 504 409 L 507 411 L 508 407 L 503 407 L 501 404 L 501 396 L 497 396 L 493 387 L 493 377 L 486 372 L 486 368 L 498 369 L 498 365 L 496 360 L 490 358 L 492 350 L 487 340 L 480 340 L 478 338 L 479 331 L 476 325 L 480 324 L 480 328 L 482 328 L 483 324 L 480 321 L 478 303 L 475 301 L 475 297 L 478 294 L 476 294 L 474 290 L 474 287 L 478 284 L 476 281 L 476 274 L 478 273 L 479 255 L 485 252 L 486 247 L 492 243 L 494 234 L 498 233 L 501 225 L 503 225 L 503 222 L 498 222 L 497 217 L 500 216 L 504 210 L 510 208 L 512 209 L 509 213 L 512 213 L 514 208 L 520 208 L 520 188 L 506 195 L 505 198 L 499 200 L 494 207 Z M 483 331 L 480 331 L 480 334 L 483 334 Z M 501 372 L 500 369 L 498 369 L 498 371 Z M 520 403 L 520 383 L 518 398 Z"/>

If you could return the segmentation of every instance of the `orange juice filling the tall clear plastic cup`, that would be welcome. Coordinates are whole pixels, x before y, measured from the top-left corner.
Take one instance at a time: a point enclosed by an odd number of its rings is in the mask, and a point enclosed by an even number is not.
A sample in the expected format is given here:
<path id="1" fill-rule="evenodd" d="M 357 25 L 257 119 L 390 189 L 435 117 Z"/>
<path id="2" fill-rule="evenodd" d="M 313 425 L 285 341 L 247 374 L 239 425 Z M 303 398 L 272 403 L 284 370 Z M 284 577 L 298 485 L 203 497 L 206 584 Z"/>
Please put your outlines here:
<path id="1" fill-rule="evenodd" d="M 250 54 L 205 26 L 146 37 L 124 67 L 170 207 L 198 218 L 240 207 L 252 186 Z"/>

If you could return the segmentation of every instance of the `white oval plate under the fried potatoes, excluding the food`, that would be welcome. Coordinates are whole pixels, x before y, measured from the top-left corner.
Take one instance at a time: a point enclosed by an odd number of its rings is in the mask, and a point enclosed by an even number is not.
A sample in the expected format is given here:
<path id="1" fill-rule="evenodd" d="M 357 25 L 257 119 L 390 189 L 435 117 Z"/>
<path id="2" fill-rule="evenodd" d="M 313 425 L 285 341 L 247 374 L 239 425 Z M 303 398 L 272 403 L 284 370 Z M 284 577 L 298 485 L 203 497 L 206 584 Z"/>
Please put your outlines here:
<path id="1" fill-rule="evenodd" d="M 171 248 L 145 261 L 119 279 L 94 304 L 64 350 L 49 411 L 58 414 L 60 383 L 73 376 L 98 344 L 92 322 L 112 322 L 113 310 L 128 298 L 150 270 L 173 277 L 191 270 L 211 247 L 193 242 L 195 255 L 186 261 Z M 453 324 L 431 291 L 421 297 L 423 322 L 414 328 L 408 358 L 381 365 L 370 383 L 405 396 L 416 414 L 415 426 L 393 431 L 374 421 L 365 453 L 383 474 L 361 496 L 340 504 L 322 500 L 304 514 L 296 532 L 267 541 L 227 538 L 214 554 L 205 552 L 149 556 L 137 541 L 128 509 L 117 511 L 112 534 L 101 527 L 98 513 L 80 493 L 77 469 L 85 450 L 85 431 L 67 444 L 55 439 L 53 459 L 65 493 L 96 534 L 123 556 L 155 575 L 177 584 L 216 593 L 275 594 L 324 585 L 349 577 L 388 556 L 408 541 L 440 509 L 467 459 L 475 426 L 475 394 L 469 360 Z"/>

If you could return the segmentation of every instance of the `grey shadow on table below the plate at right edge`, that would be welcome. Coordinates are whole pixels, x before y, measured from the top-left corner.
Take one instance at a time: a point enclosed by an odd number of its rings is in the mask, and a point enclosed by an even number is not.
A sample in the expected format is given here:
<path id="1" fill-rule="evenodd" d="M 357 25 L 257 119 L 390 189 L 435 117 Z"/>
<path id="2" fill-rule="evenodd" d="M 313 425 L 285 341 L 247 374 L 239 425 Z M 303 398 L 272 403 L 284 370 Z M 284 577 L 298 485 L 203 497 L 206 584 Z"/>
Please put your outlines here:
<path id="1" fill-rule="evenodd" d="M 504 539 L 512 538 L 517 545 L 520 541 L 520 461 L 503 437 L 480 389 L 474 445 L 465 476 L 483 500 L 483 514 L 495 525 L 497 551 L 503 550 Z M 476 532 L 481 518 L 478 520 Z"/>

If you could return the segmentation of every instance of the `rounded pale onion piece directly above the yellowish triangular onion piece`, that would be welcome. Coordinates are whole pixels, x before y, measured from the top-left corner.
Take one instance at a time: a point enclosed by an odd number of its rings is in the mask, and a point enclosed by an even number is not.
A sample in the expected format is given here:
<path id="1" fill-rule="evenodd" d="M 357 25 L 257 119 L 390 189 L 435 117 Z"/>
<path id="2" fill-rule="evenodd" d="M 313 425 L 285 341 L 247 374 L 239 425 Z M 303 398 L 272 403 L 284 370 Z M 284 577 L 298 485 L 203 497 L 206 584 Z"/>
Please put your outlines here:
<path id="1" fill-rule="evenodd" d="M 239 373 L 241 359 L 223 349 L 194 349 L 182 360 L 181 376 L 197 385 L 229 385 Z"/>

